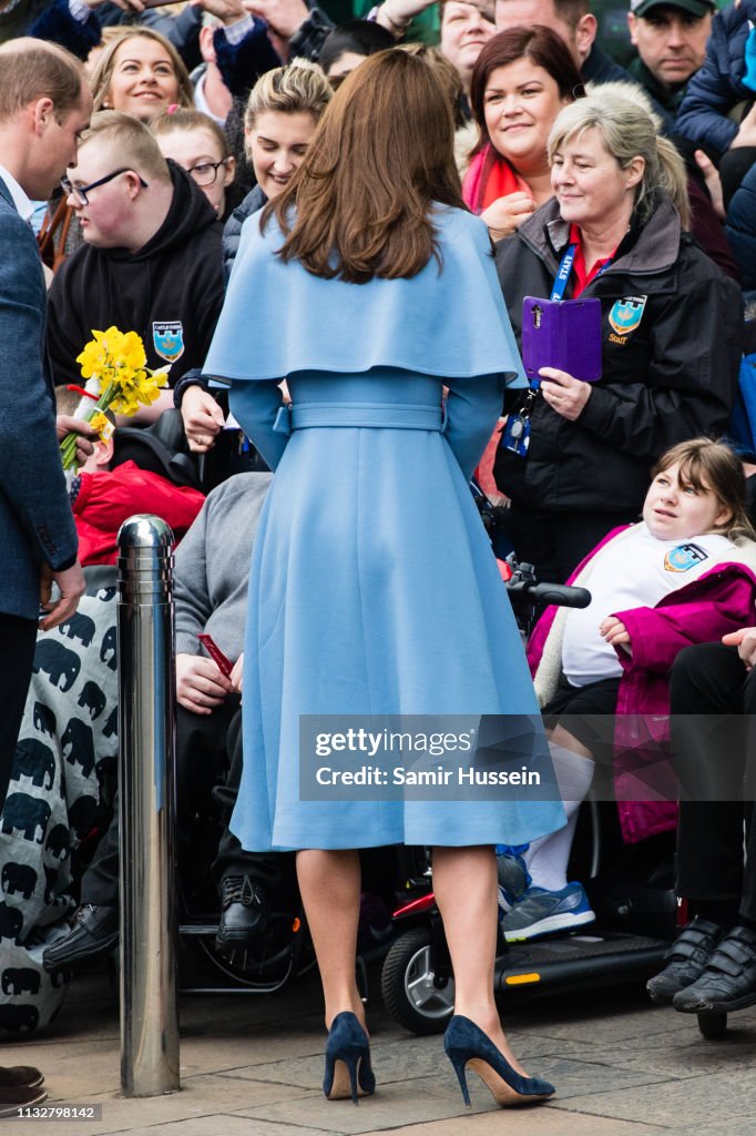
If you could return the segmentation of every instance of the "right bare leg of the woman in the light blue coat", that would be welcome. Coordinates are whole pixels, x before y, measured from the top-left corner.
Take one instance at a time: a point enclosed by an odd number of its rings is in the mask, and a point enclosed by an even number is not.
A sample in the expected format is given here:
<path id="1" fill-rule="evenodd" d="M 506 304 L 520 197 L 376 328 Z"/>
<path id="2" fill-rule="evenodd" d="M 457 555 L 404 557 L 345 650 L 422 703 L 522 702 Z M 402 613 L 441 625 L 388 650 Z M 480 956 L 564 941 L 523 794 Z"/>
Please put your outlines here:
<path id="1" fill-rule="evenodd" d="M 521 1074 L 494 1001 L 497 878 L 490 846 L 435 847 L 434 892 L 454 968 L 454 1012 L 470 1018 Z"/>

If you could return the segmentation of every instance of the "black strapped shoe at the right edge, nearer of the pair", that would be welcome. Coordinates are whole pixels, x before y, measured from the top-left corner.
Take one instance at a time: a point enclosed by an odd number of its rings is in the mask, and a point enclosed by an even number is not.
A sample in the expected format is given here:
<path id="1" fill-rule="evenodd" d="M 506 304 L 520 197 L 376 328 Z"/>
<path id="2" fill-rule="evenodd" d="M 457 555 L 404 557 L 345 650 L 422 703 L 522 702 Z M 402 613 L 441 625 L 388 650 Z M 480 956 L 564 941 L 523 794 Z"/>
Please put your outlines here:
<path id="1" fill-rule="evenodd" d="M 756 1003 L 756 930 L 733 927 L 706 963 L 700 978 L 672 1000 L 675 1010 L 745 1010 Z"/>

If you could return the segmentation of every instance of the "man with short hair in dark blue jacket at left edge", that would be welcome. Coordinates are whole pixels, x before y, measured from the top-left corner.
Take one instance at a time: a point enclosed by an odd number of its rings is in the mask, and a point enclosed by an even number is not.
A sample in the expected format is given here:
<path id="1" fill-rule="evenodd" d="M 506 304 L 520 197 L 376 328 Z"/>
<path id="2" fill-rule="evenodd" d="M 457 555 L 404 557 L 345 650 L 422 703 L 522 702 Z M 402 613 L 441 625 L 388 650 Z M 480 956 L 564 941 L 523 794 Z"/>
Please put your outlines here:
<path id="1" fill-rule="evenodd" d="M 91 109 L 74 56 L 40 40 L 0 47 L 0 808 L 37 626 L 68 619 L 84 592 L 44 348 L 44 276 L 27 220 L 30 199 L 49 198 L 75 164 Z M 44 1100 L 42 1080 L 27 1066 L 0 1067 L 0 1117 Z"/>

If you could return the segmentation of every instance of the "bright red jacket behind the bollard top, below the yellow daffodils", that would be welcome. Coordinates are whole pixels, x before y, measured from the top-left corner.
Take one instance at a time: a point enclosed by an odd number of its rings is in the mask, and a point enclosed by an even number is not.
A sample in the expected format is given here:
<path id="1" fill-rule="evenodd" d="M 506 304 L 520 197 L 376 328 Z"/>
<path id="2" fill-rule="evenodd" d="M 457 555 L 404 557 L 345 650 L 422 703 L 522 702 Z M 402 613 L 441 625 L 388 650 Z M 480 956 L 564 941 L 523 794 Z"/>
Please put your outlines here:
<path id="1" fill-rule="evenodd" d="M 203 503 L 204 494 L 198 490 L 174 485 L 133 461 L 112 471 L 82 474 L 82 487 L 74 502 L 78 559 L 83 567 L 115 565 L 118 529 L 136 512 L 151 512 L 167 521 L 178 541 Z"/>

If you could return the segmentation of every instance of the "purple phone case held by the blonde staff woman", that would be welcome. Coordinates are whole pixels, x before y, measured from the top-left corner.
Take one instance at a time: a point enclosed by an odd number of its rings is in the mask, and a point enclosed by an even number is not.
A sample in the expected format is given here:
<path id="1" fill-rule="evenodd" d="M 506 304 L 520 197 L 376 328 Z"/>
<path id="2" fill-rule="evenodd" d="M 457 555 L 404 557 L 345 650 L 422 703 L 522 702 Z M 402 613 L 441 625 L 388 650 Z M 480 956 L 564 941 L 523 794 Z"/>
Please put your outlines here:
<path id="1" fill-rule="evenodd" d="M 557 367 L 585 383 L 602 377 L 600 300 L 522 301 L 522 361 L 528 378 Z"/>

